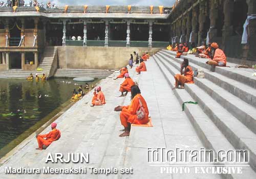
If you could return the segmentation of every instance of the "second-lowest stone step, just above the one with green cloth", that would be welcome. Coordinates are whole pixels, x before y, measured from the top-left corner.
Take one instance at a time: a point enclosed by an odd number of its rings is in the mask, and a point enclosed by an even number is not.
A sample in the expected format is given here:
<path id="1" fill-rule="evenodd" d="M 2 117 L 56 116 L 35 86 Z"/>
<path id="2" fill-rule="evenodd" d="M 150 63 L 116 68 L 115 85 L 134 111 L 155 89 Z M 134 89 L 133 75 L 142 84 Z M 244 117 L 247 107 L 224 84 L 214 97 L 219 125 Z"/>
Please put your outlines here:
<path id="1" fill-rule="evenodd" d="M 175 74 L 180 73 L 174 66 L 168 64 L 161 57 L 159 58 L 159 55 L 155 55 L 155 57 L 157 58 L 156 61 L 161 62 L 172 75 L 171 77 L 168 76 L 168 78 L 172 78 Z M 199 103 L 198 105 L 205 111 L 212 122 L 216 124 L 234 148 L 246 149 L 249 151 L 249 164 L 256 170 L 256 146 L 253 142 L 256 140 L 255 133 L 249 130 L 237 118 L 232 116 L 231 113 L 224 109 L 196 84 L 185 84 L 185 90 L 194 101 Z"/>

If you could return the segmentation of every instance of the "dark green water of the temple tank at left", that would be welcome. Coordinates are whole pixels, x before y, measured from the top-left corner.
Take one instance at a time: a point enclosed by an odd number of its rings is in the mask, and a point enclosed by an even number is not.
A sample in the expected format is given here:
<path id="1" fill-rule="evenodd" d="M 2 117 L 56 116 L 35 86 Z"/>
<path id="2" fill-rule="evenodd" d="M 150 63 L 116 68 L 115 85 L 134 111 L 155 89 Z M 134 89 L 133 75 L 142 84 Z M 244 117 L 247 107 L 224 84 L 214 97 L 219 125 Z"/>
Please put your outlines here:
<path id="1" fill-rule="evenodd" d="M 89 82 L 90 89 L 98 81 Z M 69 105 L 80 84 L 85 82 L 0 79 L 0 158 Z"/>

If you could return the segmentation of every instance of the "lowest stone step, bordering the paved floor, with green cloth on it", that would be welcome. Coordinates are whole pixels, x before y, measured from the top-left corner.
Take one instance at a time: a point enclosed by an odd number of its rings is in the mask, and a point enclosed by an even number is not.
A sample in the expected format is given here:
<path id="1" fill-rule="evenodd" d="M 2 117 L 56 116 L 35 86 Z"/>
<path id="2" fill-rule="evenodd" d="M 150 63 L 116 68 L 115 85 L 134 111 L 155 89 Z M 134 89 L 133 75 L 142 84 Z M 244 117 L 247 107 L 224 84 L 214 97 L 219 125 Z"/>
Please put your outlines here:
<path id="1" fill-rule="evenodd" d="M 167 67 L 157 56 L 154 55 L 154 60 L 159 66 L 161 72 L 163 73 L 165 79 L 167 80 L 170 87 L 174 87 L 174 73 L 170 70 L 173 67 Z M 190 94 L 185 90 L 175 89 L 175 95 L 178 98 L 180 104 L 186 101 L 194 101 Z M 195 130 L 197 131 L 198 137 L 201 139 L 202 143 L 207 149 L 212 149 L 215 152 L 220 150 L 234 150 L 234 147 L 230 144 L 230 141 L 223 135 L 216 124 L 204 113 L 202 108 L 194 104 L 185 104 L 185 113 L 189 118 L 190 122 L 193 124 Z M 232 163 L 224 163 L 224 165 L 233 165 Z M 246 164 L 245 164 L 246 165 Z M 255 178 L 256 173 L 251 167 L 246 167 L 243 170 L 243 175 L 228 174 L 225 178 Z"/>

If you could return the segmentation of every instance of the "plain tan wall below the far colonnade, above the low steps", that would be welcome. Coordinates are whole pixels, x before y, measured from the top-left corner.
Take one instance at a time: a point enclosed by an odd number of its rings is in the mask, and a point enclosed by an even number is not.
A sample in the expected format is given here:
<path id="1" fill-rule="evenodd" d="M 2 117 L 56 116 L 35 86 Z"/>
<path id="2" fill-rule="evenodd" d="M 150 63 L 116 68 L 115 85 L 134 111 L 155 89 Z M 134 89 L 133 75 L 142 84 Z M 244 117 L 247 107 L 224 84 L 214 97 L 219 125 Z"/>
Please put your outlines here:
<path id="1" fill-rule="evenodd" d="M 141 55 L 144 52 L 150 52 L 152 55 L 160 48 L 135 47 L 58 47 L 58 68 L 59 69 L 120 69 L 127 65 L 130 54 L 134 51 Z"/>

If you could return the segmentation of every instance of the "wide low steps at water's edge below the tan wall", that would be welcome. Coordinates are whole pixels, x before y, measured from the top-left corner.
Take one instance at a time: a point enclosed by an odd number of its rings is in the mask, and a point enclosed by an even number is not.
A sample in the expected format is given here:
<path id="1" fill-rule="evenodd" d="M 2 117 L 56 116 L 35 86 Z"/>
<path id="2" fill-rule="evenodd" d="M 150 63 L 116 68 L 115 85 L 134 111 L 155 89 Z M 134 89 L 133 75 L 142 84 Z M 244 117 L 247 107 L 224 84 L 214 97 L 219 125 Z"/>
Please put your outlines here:
<path id="1" fill-rule="evenodd" d="M 83 69 L 57 69 L 54 77 L 108 77 L 114 70 L 83 70 Z"/>

